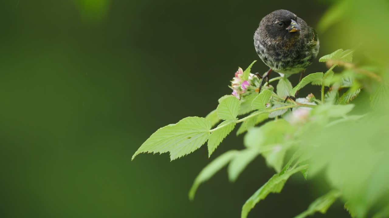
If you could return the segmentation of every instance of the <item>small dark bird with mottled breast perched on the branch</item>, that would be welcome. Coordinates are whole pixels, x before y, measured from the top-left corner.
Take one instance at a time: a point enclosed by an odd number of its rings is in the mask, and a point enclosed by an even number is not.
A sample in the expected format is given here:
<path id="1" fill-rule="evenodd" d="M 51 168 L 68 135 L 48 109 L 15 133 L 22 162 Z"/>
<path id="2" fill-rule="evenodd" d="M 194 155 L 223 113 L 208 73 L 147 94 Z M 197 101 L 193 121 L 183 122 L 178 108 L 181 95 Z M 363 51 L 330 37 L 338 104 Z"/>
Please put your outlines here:
<path id="1" fill-rule="evenodd" d="M 275 10 L 262 18 L 254 33 L 254 46 L 259 58 L 270 67 L 260 78 L 268 80 L 272 71 L 289 77 L 300 73 L 312 64 L 319 52 L 316 31 L 289 10 Z M 259 86 L 259 92 L 262 87 Z"/>

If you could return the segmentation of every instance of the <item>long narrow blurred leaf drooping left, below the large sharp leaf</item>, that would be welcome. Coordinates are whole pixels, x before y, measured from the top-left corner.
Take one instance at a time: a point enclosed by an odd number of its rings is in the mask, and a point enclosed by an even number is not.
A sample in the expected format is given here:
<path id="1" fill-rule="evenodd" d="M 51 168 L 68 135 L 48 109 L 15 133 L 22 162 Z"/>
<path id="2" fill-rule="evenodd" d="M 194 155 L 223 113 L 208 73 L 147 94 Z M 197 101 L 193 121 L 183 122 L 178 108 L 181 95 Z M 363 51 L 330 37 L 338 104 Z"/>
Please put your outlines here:
<path id="1" fill-rule="evenodd" d="M 209 180 L 213 175 L 215 175 L 217 171 L 226 166 L 228 162 L 230 162 L 231 159 L 237 155 L 237 153 L 238 151 L 235 150 L 227 151 L 205 166 L 205 168 L 196 177 L 195 182 L 193 182 L 191 190 L 189 190 L 189 199 L 193 200 L 199 185 Z"/>

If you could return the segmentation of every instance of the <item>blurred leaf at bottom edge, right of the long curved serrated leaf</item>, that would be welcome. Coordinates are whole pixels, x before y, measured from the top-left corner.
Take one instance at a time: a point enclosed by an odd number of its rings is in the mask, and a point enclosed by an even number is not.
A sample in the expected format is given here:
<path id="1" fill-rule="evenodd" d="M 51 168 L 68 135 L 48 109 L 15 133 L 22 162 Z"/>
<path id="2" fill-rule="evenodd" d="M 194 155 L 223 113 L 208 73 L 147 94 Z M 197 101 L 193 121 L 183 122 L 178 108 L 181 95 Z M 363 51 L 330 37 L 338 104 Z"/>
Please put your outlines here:
<path id="1" fill-rule="evenodd" d="M 308 209 L 294 218 L 304 218 L 310 215 L 313 215 L 315 212 L 326 213 L 328 208 L 336 201 L 340 196 L 340 192 L 332 190 L 325 194 L 324 196 L 319 197 L 314 202 L 312 202 Z"/>

